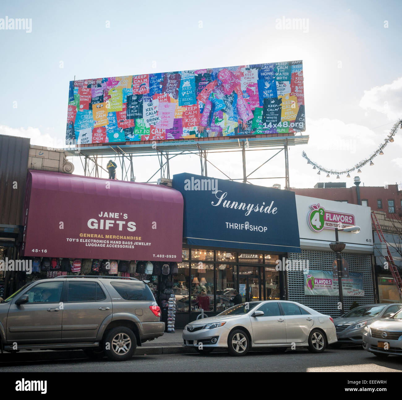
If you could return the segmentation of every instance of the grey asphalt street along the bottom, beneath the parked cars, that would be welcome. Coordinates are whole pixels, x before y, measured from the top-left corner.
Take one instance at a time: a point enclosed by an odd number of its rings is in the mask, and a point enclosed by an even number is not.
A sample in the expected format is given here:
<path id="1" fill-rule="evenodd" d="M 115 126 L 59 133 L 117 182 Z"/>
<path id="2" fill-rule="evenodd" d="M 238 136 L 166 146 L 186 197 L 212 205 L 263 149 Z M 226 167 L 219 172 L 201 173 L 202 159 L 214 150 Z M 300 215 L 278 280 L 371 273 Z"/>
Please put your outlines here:
<path id="1" fill-rule="evenodd" d="M 152 347 L 148 347 L 152 349 Z M 106 358 L 92 361 L 82 351 L 20 352 L 5 362 L 0 371 L 13 372 L 400 372 L 402 357 L 379 359 L 360 347 L 327 349 L 312 354 L 300 349 L 274 354 L 270 351 L 249 352 L 244 357 L 230 357 L 227 352 L 199 355 L 136 355 L 129 361 L 113 362 Z M 27 354 L 31 353 L 31 354 Z M 44 359 L 44 353 L 49 354 Z M 27 358 L 29 356 L 29 358 Z M 0 360 L 3 357 L 0 355 Z"/>

